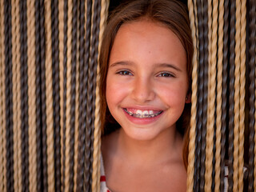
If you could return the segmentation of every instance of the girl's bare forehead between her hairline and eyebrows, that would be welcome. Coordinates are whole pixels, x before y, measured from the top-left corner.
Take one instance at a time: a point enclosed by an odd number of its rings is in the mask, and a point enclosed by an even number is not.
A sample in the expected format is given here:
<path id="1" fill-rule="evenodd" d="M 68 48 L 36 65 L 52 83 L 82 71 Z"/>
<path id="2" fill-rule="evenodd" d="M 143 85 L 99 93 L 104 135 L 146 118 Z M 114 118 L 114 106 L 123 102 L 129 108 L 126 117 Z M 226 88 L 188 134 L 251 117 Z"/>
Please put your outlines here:
<path id="1" fill-rule="evenodd" d="M 155 62 L 182 60 L 186 63 L 186 51 L 170 28 L 159 22 L 140 19 L 124 23 L 118 30 L 110 51 L 110 62 L 151 58 Z"/>

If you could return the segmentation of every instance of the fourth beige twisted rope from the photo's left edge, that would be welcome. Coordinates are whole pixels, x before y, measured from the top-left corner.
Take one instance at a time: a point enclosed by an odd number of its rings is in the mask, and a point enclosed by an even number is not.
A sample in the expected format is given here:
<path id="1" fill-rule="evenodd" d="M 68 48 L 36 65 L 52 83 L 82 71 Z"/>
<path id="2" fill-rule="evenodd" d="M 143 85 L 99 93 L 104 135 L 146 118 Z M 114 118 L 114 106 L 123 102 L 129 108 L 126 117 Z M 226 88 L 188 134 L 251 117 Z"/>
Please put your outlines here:
<path id="1" fill-rule="evenodd" d="M 47 143 L 47 179 L 48 191 L 54 191 L 54 110 L 53 110 L 53 79 L 52 79 L 52 47 L 51 47 L 51 7 L 46 7 L 46 143 Z"/>

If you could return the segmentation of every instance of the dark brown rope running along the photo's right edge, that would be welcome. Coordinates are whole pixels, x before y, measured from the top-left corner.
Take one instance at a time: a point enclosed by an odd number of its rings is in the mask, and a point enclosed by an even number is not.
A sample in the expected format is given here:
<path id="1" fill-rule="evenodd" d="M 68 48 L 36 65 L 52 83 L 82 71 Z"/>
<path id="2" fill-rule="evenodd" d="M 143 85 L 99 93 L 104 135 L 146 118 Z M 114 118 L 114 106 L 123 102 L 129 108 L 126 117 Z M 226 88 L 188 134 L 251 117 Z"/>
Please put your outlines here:
<path id="1" fill-rule="evenodd" d="M 249 110 L 249 131 L 250 131 L 250 136 L 249 136 L 249 179 L 248 179 L 248 191 L 254 191 L 254 125 L 256 119 L 254 118 L 254 113 L 255 113 L 255 47 L 256 47 L 256 42 L 255 42 L 255 36 L 256 36 L 256 2 L 254 0 L 250 0 L 250 10 L 249 10 L 249 67 L 250 67 L 250 86 L 249 86 L 249 92 L 250 92 L 250 110 Z"/>

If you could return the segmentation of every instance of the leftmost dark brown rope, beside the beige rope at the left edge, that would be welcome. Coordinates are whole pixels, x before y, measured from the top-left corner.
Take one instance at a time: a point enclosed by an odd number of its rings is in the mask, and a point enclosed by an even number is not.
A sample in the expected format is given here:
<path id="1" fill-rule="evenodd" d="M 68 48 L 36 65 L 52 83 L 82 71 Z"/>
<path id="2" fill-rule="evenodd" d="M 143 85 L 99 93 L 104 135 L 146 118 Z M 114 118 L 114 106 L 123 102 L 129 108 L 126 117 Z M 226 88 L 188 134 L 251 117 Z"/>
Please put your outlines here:
<path id="1" fill-rule="evenodd" d="M 13 92 L 11 52 L 11 5 L 4 2 L 5 86 L 6 86 L 6 190 L 14 191 Z"/>

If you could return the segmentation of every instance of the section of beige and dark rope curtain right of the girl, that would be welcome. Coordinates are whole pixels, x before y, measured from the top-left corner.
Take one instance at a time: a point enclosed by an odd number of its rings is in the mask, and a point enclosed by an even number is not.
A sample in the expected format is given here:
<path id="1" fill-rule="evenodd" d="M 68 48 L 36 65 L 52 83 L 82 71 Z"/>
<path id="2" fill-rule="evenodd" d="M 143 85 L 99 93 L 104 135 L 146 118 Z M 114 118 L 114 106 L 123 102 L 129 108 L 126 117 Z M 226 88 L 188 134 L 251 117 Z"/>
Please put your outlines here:
<path id="1" fill-rule="evenodd" d="M 188 191 L 226 191 L 225 177 L 227 191 L 256 190 L 255 6 L 188 1 L 196 50 Z"/>

